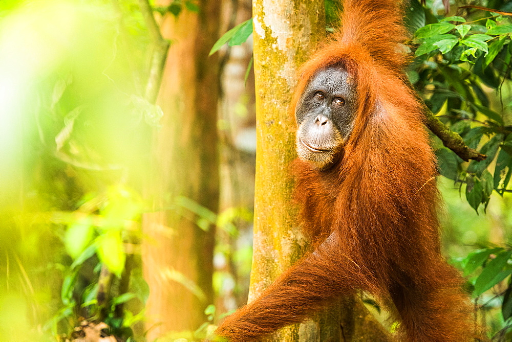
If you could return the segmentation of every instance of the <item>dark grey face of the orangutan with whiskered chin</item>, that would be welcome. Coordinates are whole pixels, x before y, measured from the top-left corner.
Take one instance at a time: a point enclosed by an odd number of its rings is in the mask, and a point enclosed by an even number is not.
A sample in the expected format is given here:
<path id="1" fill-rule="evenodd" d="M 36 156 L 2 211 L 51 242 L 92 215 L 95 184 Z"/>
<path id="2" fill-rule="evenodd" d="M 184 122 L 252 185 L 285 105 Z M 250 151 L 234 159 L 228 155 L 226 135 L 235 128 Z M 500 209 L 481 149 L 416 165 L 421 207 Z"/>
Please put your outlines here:
<path id="1" fill-rule="evenodd" d="M 295 109 L 298 156 L 318 169 L 331 166 L 352 131 L 356 88 L 343 66 L 318 71 Z"/>

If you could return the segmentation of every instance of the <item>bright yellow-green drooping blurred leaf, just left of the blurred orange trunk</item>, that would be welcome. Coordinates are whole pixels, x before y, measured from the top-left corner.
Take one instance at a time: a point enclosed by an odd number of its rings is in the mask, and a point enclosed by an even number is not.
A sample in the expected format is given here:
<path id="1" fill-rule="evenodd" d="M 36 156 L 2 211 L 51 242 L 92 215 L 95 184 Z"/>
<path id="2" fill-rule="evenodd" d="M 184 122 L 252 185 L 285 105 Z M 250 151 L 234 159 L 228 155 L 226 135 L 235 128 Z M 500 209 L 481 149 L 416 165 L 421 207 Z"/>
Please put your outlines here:
<path id="1" fill-rule="evenodd" d="M 96 239 L 97 253 L 100 261 L 116 276 L 120 277 L 124 269 L 126 256 L 123 252 L 121 232 L 106 231 Z"/>

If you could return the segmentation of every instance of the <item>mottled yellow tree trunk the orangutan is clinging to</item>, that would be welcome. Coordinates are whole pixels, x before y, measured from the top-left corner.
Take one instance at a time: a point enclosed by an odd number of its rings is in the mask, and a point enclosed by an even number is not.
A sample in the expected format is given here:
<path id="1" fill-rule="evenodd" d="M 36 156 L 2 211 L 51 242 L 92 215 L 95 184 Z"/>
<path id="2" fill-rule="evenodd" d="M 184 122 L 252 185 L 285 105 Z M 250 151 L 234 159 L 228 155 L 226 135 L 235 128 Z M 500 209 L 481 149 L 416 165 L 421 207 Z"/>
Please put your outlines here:
<path id="1" fill-rule="evenodd" d="M 296 71 L 326 39 L 324 1 L 253 0 L 257 152 L 254 242 L 249 301 L 257 298 L 307 248 L 292 201 L 289 172 L 295 154 L 295 118 L 289 102 Z M 385 329 L 357 297 L 334 303 L 269 340 L 387 340 Z"/>

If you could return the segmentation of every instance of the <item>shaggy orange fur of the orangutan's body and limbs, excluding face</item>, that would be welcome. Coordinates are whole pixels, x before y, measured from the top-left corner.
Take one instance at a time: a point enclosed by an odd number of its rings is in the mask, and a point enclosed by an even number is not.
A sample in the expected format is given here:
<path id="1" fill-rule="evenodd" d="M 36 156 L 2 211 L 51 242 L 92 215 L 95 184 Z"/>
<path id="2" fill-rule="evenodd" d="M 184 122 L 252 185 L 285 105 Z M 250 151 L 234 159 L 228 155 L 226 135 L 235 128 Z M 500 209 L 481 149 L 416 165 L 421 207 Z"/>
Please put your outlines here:
<path id="1" fill-rule="evenodd" d="M 342 28 L 302 67 L 291 110 L 316 71 L 341 63 L 357 86 L 354 129 L 329 170 L 293 164 L 314 252 L 227 317 L 219 335 L 258 339 L 365 290 L 393 300 L 400 338 L 472 338 L 462 279 L 440 254 L 435 158 L 421 106 L 402 81 L 400 13 L 396 0 L 346 0 Z"/>

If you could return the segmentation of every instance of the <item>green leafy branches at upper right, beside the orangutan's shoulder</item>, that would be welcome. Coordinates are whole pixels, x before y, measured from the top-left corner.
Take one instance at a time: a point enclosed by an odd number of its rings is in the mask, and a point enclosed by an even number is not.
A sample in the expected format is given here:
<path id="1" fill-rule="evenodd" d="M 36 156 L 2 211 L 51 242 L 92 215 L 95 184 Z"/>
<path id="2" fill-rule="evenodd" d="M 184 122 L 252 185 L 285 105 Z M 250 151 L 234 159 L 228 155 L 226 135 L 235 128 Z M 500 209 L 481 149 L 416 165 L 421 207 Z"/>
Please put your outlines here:
<path id="1" fill-rule="evenodd" d="M 417 7 L 411 15 L 420 22 Z M 484 161 L 465 163 L 437 143 L 440 173 L 466 184 L 468 204 L 477 212 L 480 206 L 485 210 L 493 190 L 500 195 L 507 191 L 512 169 L 512 117 L 504 105 L 510 98 L 504 84 L 510 81 L 512 25 L 492 14 L 472 20 L 437 19 L 426 8 L 423 14 L 426 25 L 414 33 L 416 58 L 408 75 L 432 112 L 467 146 L 487 155 Z M 489 98 L 489 88 L 499 94 L 500 103 Z"/>

